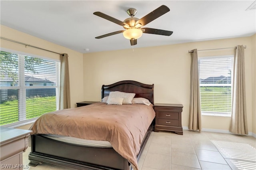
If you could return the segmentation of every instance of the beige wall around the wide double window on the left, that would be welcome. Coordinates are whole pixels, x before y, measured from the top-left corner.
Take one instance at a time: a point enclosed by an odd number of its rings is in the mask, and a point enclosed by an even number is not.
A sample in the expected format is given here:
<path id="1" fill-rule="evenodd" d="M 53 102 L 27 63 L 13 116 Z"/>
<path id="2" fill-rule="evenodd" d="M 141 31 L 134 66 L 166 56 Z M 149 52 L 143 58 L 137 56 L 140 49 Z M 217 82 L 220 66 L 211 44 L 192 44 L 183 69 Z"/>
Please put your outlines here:
<path id="1" fill-rule="evenodd" d="M 83 85 L 83 54 L 77 51 L 62 47 L 60 45 L 47 42 L 45 40 L 30 36 L 23 32 L 18 32 L 6 26 L 1 25 L 0 31 L 1 37 L 8 38 L 10 40 L 15 40 L 18 42 L 26 43 L 29 45 L 34 45 L 36 47 L 41 47 L 48 49 L 50 51 L 55 51 L 58 53 L 68 53 L 69 57 L 69 69 L 70 69 L 70 97 L 71 97 L 71 107 L 76 107 L 76 102 L 82 101 L 84 99 L 84 85 Z M 51 59 L 60 60 L 60 56 L 55 53 L 44 51 L 41 49 L 36 49 L 33 47 L 25 47 L 18 43 L 10 42 L 7 40 L 0 39 L 0 47 L 11 49 L 15 51 L 21 51 L 24 53 L 29 53 L 32 55 L 39 55 L 43 57 L 48 57 Z"/>

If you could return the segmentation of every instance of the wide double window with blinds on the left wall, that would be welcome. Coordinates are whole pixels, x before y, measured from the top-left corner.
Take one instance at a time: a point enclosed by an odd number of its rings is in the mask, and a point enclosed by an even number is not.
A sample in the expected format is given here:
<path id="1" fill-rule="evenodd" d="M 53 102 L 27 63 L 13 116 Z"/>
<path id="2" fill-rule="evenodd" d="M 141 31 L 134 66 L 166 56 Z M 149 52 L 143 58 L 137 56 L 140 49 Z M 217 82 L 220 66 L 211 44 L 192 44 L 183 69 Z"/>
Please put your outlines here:
<path id="1" fill-rule="evenodd" d="M 0 51 L 0 125 L 58 109 L 60 62 Z"/>

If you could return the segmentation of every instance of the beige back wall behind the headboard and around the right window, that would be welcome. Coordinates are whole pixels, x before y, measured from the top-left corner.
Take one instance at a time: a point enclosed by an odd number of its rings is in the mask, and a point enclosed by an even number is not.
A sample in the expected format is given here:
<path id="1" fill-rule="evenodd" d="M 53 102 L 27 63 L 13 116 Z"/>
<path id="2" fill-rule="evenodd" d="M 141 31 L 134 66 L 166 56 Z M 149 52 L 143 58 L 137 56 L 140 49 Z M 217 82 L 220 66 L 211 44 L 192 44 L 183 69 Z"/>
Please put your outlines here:
<path id="1" fill-rule="evenodd" d="M 255 40 L 255 35 L 244 38 L 134 48 L 134 51 L 126 49 L 84 54 L 84 100 L 100 101 L 100 89 L 103 84 L 108 85 L 121 80 L 154 83 L 155 103 L 183 104 L 182 125 L 188 127 L 191 62 L 188 50 L 246 45 L 248 129 L 255 133 L 255 130 L 252 130 L 255 128 L 255 107 L 252 107 L 252 99 L 255 104 L 255 92 L 252 94 L 252 85 L 255 85 L 255 80 L 252 82 L 252 77 L 255 77 L 255 70 L 252 71 L 252 58 L 255 58 L 255 53 L 252 53 L 255 51 L 253 39 Z M 234 54 L 234 49 L 198 52 L 199 57 L 223 54 Z M 207 129 L 228 131 L 230 125 L 230 117 L 203 116 L 202 121 L 202 127 Z"/>

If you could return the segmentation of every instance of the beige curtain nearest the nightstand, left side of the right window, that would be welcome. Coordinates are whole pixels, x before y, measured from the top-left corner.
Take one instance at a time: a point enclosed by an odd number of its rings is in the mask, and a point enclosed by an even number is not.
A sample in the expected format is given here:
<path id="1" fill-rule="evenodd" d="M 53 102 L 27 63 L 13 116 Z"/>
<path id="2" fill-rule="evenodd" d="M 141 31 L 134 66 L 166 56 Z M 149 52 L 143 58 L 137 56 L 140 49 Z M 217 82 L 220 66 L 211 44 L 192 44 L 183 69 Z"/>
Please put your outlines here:
<path id="1" fill-rule="evenodd" d="M 190 67 L 190 107 L 189 107 L 189 123 L 188 129 L 199 130 L 202 129 L 202 115 L 200 103 L 200 87 L 199 87 L 199 69 L 198 69 L 198 55 L 197 49 L 194 49 L 191 54 Z"/>

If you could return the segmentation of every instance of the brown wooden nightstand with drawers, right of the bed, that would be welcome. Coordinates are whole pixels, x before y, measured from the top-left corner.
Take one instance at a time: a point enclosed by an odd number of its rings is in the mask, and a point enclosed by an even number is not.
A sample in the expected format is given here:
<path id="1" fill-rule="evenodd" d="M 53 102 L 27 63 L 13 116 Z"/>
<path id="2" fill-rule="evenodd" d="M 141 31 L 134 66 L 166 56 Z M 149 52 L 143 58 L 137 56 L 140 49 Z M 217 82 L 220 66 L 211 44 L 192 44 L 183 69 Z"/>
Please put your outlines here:
<path id="1" fill-rule="evenodd" d="M 182 104 L 162 104 L 156 103 L 154 110 L 156 112 L 155 132 L 162 130 L 173 131 L 177 134 L 183 134 L 181 125 Z"/>

